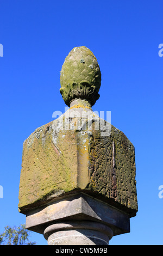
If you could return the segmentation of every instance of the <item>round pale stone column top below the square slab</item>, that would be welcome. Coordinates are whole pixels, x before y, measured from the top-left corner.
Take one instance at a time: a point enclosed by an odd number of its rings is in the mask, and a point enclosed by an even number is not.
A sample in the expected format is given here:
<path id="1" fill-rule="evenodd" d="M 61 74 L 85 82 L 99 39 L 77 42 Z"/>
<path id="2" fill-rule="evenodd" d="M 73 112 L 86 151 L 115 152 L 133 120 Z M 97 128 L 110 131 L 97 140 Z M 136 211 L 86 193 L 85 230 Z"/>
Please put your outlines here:
<path id="1" fill-rule="evenodd" d="M 56 223 L 44 231 L 48 245 L 108 245 L 112 235 L 108 226 L 90 221 Z"/>

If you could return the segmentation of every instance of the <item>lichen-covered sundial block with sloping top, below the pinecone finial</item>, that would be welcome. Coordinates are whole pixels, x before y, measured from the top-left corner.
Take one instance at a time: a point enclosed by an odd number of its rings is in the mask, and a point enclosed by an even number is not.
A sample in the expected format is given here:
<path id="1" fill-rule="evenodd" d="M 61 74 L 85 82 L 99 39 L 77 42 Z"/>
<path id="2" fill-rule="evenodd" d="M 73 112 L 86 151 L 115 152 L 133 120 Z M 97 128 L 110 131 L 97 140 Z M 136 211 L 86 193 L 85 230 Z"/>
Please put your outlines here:
<path id="1" fill-rule="evenodd" d="M 134 146 L 81 101 L 24 142 L 18 207 L 79 191 L 136 215 Z"/>

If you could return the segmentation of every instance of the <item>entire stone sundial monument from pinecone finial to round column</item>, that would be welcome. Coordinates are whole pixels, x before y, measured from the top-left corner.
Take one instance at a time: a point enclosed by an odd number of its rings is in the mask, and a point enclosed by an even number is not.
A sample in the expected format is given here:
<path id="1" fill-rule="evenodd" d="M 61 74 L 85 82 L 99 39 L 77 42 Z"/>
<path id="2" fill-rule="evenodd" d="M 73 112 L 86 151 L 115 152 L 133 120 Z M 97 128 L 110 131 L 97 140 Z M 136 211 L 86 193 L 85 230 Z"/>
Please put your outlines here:
<path id="1" fill-rule="evenodd" d="M 134 146 L 92 111 L 101 71 L 88 48 L 73 48 L 60 81 L 70 108 L 24 141 L 18 209 L 48 245 L 108 245 L 137 212 Z"/>

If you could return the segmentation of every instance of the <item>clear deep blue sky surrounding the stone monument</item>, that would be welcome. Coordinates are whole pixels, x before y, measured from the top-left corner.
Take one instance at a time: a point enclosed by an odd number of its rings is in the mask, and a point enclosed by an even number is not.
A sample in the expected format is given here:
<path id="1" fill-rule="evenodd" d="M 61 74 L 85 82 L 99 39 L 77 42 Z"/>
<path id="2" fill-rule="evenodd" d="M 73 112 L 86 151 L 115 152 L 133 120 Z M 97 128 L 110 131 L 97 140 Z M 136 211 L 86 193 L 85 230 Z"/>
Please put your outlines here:
<path id="1" fill-rule="evenodd" d="M 0 1 L 0 233 L 26 221 L 17 208 L 22 144 L 54 111 L 64 112 L 61 66 L 84 45 L 102 72 L 93 111 L 111 111 L 111 124 L 135 146 L 139 211 L 130 233 L 110 245 L 163 244 L 162 10 L 162 0 Z M 31 240 L 47 244 L 40 234 Z"/>

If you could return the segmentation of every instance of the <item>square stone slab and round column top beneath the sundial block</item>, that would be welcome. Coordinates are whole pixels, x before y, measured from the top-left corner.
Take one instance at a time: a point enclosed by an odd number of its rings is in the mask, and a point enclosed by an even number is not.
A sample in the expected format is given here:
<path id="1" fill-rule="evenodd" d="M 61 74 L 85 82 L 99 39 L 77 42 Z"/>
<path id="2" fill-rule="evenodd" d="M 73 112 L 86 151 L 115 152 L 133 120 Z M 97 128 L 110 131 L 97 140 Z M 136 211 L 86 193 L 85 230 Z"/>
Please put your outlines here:
<path id="1" fill-rule="evenodd" d="M 28 212 L 26 228 L 44 235 L 48 245 L 108 245 L 129 233 L 124 212 L 85 193 L 71 194 Z"/>

